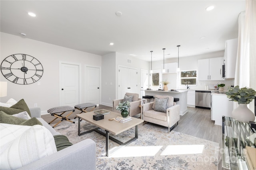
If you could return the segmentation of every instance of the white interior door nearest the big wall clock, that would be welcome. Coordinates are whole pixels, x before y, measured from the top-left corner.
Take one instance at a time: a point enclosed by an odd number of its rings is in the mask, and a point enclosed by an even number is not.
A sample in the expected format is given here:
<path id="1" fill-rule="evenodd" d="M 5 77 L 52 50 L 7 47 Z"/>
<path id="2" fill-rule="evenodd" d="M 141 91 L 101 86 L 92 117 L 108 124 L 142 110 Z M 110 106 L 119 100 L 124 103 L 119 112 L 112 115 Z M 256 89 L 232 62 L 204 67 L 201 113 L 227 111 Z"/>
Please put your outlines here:
<path id="1" fill-rule="evenodd" d="M 60 106 L 79 104 L 79 65 L 60 63 Z"/>

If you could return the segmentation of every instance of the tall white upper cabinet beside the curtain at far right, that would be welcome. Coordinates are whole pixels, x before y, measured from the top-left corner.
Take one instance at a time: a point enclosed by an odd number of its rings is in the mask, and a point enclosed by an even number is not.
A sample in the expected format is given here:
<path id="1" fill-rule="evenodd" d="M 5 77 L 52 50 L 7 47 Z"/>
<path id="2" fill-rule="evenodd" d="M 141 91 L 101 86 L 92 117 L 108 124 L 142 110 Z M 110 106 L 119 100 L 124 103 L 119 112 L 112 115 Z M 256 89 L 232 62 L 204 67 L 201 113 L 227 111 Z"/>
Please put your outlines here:
<path id="1" fill-rule="evenodd" d="M 237 55 L 238 39 L 230 39 L 226 41 L 225 49 L 225 78 L 235 78 L 236 55 Z"/>

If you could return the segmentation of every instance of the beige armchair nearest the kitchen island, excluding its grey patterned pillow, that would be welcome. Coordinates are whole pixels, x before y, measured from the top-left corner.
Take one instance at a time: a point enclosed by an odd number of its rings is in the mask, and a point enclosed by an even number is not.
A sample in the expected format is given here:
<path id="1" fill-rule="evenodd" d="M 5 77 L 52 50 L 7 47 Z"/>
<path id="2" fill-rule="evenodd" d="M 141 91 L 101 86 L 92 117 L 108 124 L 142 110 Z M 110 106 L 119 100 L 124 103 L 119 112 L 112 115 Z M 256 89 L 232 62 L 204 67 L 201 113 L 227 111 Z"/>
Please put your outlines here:
<path id="1" fill-rule="evenodd" d="M 166 113 L 162 111 L 155 111 L 157 110 L 155 106 L 156 98 L 157 99 L 168 98 L 168 104 L 167 104 L 168 109 L 166 109 Z M 142 119 L 147 122 L 168 127 L 168 133 L 170 133 L 170 131 L 176 125 L 178 125 L 178 121 L 180 120 L 180 105 L 176 104 L 176 102 L 173 102 L 173 100 L 174 98 L 172 96 L 156 95 L 154 102 L 146 103 L 141 106 Z"/>

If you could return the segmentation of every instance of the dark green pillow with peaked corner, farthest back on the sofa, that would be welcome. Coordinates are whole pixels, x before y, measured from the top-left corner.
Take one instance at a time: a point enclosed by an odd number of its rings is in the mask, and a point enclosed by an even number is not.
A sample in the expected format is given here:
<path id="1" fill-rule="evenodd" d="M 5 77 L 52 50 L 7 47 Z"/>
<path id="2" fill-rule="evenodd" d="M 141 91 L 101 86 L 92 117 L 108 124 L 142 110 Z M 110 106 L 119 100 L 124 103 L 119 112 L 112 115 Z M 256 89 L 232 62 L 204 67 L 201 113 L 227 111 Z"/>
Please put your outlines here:
<path id="1" fill-rule="evenodd" d="M 14 114 L 20 113 L 22 111 L 27 111 L 28 115 L 31 117 L 30 110 L 29 110 L 26 102 L 24 101 L 24 99 L 20 100 L 19 102 L 17 102 L 16 104 L 14 104 L 11 107 L 0 106 L 0 110 L 8 115 L 14 115 Z"/>

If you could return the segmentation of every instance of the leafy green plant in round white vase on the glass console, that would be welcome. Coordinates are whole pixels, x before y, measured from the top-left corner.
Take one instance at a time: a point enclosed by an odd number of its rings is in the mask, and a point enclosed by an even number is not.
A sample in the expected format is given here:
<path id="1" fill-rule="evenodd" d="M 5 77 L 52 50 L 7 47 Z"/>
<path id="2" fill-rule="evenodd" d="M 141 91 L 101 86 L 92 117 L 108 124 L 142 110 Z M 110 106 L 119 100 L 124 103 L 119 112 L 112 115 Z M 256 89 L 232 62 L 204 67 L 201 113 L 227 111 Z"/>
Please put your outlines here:
<path id="1" fill-rule="evenodd" d="M 239 88 L 239 86 L 235 86 L 234 88 L 229 88 L 226 95 L 227 98 L 231 99 L 230 101 L 238 102 L 238 107 L 232 111 L 232 117 L 234 119 L 245 123 L 255 120 L 254 113 L 247 107 L 256 96 L 255 90 L 252 88 Z"/>

